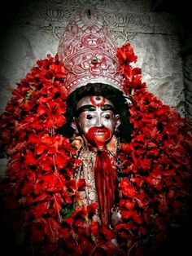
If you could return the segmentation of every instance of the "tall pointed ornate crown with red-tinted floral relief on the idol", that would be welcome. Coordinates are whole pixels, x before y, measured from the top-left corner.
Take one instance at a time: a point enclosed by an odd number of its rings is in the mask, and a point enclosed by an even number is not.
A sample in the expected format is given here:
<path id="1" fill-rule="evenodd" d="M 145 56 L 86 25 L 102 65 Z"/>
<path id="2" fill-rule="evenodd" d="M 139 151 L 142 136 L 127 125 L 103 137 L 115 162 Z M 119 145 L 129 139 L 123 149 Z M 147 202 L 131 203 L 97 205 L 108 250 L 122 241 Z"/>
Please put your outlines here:
<path id="1" fill-rule="evenodd" d="M 59 42 L 58 53 L 68 70 L 68 94 L 87 83 L 105 83 L 124 91 L 116 44 L 95 10 L 81 10 Z"/>

